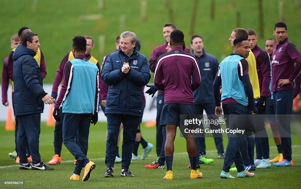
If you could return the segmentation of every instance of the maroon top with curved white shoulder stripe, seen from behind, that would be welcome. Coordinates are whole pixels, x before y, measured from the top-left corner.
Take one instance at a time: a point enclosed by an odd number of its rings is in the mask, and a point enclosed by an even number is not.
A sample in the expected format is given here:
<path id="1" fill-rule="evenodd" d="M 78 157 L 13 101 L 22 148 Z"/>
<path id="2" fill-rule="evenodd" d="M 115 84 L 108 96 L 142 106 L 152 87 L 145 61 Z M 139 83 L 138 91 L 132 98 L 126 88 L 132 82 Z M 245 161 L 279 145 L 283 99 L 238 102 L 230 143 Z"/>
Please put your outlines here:
<path id="1" fill-rule="evenodd" d="M 164 91 L 164 104 L 193 105 L 192 92 L 200 83 L 200 70 L 195 56 L 184 52 L 181 47 L 173 47 L 170 52 L 158 58 L 154 84 Z"/>

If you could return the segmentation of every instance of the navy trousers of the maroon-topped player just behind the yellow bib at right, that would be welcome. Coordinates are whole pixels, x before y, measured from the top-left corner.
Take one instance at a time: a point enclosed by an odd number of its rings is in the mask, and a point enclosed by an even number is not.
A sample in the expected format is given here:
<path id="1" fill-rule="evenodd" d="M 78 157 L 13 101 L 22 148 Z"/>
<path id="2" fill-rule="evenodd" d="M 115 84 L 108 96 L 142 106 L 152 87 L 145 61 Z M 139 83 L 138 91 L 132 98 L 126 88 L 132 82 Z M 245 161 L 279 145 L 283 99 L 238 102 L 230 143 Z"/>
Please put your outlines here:
<path id="1" fill-rule="evenodd" d="M 255 99 L 255 103 L 258 99 Z M 266 112 L 270 106 L 271 97 L 265 98 L 265 112 L 262 114 L 256 113 L 253 115 L 253 122 L 255 128 L 255 145 L 256 145 L 256 159 L 270 158 L 270 147 L 268 144 L 268 134 L 265 130 L 265 120 L 267 118 Z"/>

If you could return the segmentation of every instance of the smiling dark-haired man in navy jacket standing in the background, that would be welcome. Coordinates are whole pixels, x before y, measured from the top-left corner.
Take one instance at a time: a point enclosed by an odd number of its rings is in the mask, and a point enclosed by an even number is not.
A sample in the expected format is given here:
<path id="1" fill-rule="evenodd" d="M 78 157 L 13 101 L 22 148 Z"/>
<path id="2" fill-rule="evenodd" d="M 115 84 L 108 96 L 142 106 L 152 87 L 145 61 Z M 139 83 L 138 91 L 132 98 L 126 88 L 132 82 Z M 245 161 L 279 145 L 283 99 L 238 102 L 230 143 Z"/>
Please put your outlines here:
<path id="1" fill-rule="evenodd" d="M 217 61 L 216 57 L 206 53 L 206 50 L 204 49 L 203 38 L 200 35 L 194 35 L 191 37 L 190 47 L 193 49 L 191 50 L 191 54 L 194 55 L 197 59 L 202 80 L 200 87 L 198 87 L 197 90 L 193 92 L 195 109 L 197 111 L 197 114 L 203 114 L 203 110 L 205 110 L 206 114 L 208 115 L 208 119 L 216 120 L 217 118 L 214 115 L 215 104 L 213 91 L 208 90 L 208 88 L 213 85 L 213 81 L 219 67 L 219 62 Z M 200 127 L 201 129 L 204 129 L 203 123 L 200 125 Z M 218 130 L 221 127 L 219 124 L 210 124 L 210 128 L 211 130 Z M 213 137 L 218 153 L 218 158 L 223 159 L 225 152 L 223 147 L 222 134 L 213 133 Z M 200 134 L 199 137 L 196 137 L 196 143 L 198 156 L 200 156 L 199 163 L 212 163 L 213 159 L 206 158 L 204 134 Z"/>

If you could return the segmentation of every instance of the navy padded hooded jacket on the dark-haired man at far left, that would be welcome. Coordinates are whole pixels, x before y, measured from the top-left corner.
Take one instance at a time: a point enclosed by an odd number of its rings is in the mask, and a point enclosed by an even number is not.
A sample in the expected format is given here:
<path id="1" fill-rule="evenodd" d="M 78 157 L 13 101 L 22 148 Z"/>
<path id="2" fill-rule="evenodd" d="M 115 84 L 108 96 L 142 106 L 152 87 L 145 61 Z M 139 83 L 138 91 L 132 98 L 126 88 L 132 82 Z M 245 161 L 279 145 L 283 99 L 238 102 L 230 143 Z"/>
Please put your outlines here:
<path id="1" fill-rule="evenodd" d="M 36 53 L 19 45 L 14 52 L 14 109 L 15 115 L 43 113 L 42 98 L 47 94 L 43 89 L 42 76 Z"/>

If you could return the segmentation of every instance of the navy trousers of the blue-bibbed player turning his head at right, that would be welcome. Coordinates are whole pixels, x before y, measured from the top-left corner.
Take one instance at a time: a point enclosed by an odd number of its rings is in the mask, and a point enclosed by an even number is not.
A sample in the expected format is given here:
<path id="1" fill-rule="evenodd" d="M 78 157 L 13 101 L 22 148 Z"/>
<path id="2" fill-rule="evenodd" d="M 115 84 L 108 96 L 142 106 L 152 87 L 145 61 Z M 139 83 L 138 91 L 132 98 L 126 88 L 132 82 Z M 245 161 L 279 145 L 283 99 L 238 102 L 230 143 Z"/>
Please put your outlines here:
<path id="1" fill-rule="evenodd" d="M 246 120 L 247 106 L 239 104 L 222 105 L 226 127 L 229 130 L 243 129 Z M 226 148 L 223 171 L 229 172 L 230 166 L 235 163 L 237 172 L 244 170 L 244 163 L 239 151 L 239 134 L 228 134 L 228 145 Z"/>

